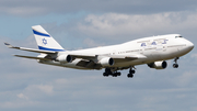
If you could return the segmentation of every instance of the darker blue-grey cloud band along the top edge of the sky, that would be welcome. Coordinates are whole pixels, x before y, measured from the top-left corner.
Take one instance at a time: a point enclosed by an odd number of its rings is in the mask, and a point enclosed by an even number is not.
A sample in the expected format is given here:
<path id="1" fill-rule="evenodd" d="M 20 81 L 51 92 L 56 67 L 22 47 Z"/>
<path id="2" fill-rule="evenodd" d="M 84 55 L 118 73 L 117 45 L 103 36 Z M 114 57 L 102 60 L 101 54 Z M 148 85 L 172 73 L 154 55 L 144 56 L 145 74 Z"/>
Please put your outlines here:
<path id="1" fill-rule="evenodd" d="M 79 11 L 148 14 L 196 10 L 196 4 L 195 0 L 1 0 L 0 12 L 25 16 Z"/>

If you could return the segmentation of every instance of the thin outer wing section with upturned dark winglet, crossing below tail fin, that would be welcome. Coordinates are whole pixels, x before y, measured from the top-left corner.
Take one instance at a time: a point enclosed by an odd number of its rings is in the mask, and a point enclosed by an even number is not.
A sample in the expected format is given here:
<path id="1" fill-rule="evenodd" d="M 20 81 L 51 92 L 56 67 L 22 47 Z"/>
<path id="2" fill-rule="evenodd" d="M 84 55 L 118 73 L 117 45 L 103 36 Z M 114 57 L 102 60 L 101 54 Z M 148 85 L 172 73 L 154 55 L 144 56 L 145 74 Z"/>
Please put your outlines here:
<path id="1" fill-rule="evenodd" d="M 15 48 L 15 49 L 34 52 L 34 53 L 44 53 L 44 54 L 55 54 L 55 53 L 57 53 L 57 52 L 51 52 L 51 51 L 43 51 L 43 49 L 34 49 L 34 48 L 12 46 L 12 45 L 9 44 L 9 43 L 4 43 L 4 45 L 7 45 L 9 48 Z"/>

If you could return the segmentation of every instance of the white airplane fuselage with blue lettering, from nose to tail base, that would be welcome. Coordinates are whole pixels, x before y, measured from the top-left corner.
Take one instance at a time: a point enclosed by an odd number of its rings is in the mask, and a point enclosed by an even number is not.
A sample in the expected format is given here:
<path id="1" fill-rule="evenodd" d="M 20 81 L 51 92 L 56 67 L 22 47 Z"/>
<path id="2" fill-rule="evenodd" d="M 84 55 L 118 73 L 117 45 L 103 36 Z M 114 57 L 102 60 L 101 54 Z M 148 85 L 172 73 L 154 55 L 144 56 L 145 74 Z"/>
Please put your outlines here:
<path id="1" fill-rule="evenodd" d="M 135 60 L 115 62 L 112 67 L 130 67 L 141 64 L 149 64 L 159 60 L 167 60 L 175 57 L 181 57 L 194 48 L 194 44 L 179 34 L 161 35 L 144 37 L 135 41 L 130 41 L 119 45 L 111 45 L 88 49 L 60 52 L 61 54 L 84 54 L 84 55 L 103 55 L 103 56 L 130 56 L 130 55 L 143 55 L 146 58 Z M 85 67 L 77 66 L 80 58 L 74 59 L 72 63 L 59 63 L 59 62 L 42 62 L 42 64 L 49 64 L 77 69 L 90 69 Z"/>

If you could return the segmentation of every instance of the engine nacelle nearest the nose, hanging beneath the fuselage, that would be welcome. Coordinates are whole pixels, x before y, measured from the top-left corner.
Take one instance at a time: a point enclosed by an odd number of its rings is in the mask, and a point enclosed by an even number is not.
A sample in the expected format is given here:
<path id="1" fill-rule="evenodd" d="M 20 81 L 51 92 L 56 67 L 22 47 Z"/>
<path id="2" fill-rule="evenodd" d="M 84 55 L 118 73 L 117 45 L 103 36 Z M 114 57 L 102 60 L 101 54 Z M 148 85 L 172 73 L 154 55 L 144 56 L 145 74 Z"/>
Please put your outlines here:
<path id="1" fill-rule="evenodd" d="M 165 60 L 162 62 L 154 62 L 151 64 L 148 64 L 150 68 L 155 68 L 155 69 L 165 69 L 167 67 L 167 63 Z"/>

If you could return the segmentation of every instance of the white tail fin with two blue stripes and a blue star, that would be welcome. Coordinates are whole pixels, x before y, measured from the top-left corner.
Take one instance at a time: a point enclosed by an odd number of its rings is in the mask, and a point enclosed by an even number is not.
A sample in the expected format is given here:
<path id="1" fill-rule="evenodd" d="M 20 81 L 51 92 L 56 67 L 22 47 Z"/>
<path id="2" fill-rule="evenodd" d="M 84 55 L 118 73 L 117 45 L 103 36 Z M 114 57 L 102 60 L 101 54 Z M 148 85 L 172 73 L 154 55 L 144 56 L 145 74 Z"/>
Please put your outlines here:
<path id="1" fill-rule="evenodd" d="M 32 26 L 32 29 L 39 49 L 54 52 L 65 51 L 40 25 Z"/>

